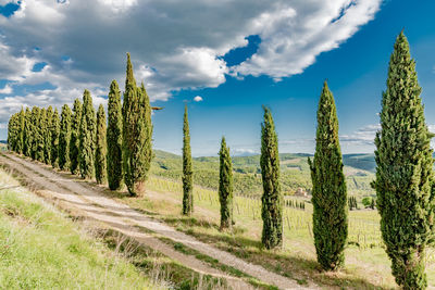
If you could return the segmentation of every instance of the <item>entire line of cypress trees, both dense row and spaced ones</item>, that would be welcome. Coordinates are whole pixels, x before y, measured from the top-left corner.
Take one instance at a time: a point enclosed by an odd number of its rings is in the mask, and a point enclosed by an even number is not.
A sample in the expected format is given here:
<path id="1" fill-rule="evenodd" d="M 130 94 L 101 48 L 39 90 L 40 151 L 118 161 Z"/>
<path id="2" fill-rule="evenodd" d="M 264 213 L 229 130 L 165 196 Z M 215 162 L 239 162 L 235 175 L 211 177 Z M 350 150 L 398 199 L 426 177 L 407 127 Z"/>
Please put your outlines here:
<path id="1" fill-rule="evenodd" d="M 400 33 L 389 61 L 387 89 L 382 98 L 381 130 L 375 138 L 377 167 L 373 188 L 377 194 L 382 237 L 391 260 L 393 275 L 405 289 L 427 287 L 425 250 L 435 239 L 434 159 L 430 146 L 433 135 L 425 124 L 420 93 L 415 63 L 410 56 L 408 40 Z M 99 182 L 104 179 L 104 156 L 108 156 L 110 188 L 117 189 L 124 176 L 128 191 L 135 196 L 145 188 L 152 159 L 152 124 L 149 98 L 144 85 L 140 88 L 136 86 L 129 54 L 122 112 L 117 84 L 113 81 L 111 85 L 108 129 L 104 111 L 100 108 L 96 119 L 90 94 L 85 90 L 84 105 L 76 100 L 73 113 L 64 105 L 61 121 L 51 106 L 47 110 L 22 110 L 10 119 L 9 147 L 53 166 L 70 167 L 72 173 L 79 171 L 83 177 L 92 177 L 95 173 Z M 263 106 L 263 111 L 261 240 L 264 248 L 274 249 L 283 244 L 284 201 L 279 186 L 275 125 L 270 109 Z M 108 149 L 104 148 L 105 131 Z M 190 215 L 194 211 L 192 164 L 187 106 L 183 131 L 183 214 Z M 349 206 L 338 117 L 326 81 L 319 101 L 315 139 L 314 159 L 308 159 L 313 185 L 314 245 L 322 268 L 336 270 L 345 262 Z M 229 228 L 234 223 L 233 169 L 225 138 L 222 138 L 220 150 L 219 194 L 221 228 Z"/>

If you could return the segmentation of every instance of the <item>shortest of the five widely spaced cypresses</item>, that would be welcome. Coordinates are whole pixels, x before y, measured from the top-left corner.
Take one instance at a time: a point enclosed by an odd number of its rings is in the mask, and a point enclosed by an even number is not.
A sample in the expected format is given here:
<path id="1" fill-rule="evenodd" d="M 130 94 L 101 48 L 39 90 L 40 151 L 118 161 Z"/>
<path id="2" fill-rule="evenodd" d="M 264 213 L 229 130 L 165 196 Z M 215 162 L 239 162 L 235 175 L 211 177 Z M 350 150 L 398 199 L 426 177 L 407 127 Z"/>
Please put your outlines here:
<path id="1" fill-rule="evenodd" d="M 225 137 L 222 137 L 219 152 L 219 201 L 221 202 L 221 229 L 233 225 L 233 162 Z"/>

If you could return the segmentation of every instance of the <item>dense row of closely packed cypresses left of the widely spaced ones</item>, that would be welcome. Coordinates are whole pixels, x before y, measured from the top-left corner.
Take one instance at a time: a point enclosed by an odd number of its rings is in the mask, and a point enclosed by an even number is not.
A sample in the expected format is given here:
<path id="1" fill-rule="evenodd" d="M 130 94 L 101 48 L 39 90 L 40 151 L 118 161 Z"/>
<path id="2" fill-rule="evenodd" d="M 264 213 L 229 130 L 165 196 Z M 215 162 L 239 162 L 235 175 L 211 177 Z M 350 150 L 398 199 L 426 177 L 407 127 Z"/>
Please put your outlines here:
<path id="1" fill-rule="evenodd" d="M 129 54 L 126 75 L 123 104 L 116 80 L 110 86 L 109 121 L 102 104 L 96 114 L 88 90 L 73 110 L 64 104 L 61 117 L 52 106 L 22 109 L 9 122 L 10 150 L 97 184 L 108 181 L 112 190 L 124 180 L 130 196 L 142 194 L 152 159 L 151 106 L 144 84 L 136 86 Z"/>

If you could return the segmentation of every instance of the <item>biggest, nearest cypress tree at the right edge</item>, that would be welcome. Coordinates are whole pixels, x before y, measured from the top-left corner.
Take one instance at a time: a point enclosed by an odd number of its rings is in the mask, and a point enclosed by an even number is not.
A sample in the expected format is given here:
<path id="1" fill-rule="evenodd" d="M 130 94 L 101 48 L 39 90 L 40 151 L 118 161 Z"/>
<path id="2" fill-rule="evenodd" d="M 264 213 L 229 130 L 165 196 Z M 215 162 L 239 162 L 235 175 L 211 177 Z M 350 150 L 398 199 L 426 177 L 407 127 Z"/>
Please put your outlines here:
<path id="1" fill-rule="evenodd" d="M 431 138 L 415 62 L 401 31 L 389 59 L 375 138 L 376 205 L 393 275 L 403 289 L 424 289 L 425 250 L 434 228 L 435 190 Z"/>

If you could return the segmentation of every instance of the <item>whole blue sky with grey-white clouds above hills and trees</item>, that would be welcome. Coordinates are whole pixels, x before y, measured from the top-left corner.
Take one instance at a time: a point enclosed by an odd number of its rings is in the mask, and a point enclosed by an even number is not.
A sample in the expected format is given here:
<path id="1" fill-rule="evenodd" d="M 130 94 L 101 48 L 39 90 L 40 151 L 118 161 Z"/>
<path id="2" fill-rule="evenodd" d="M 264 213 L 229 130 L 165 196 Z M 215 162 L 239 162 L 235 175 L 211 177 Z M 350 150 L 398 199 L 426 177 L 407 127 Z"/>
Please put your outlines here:
<path id="1" fill-rule="evenodd" d="M 405 28 L 435 128 L 435 1 L 0 0 L 0 139 L 22 106 L 60 108 L 124 87 L 126 52 L 156 112 L 154 147 L 179 153 L 189 105 L 194 155 L 258 152 L 262 104 L 281 152 L 312 152 L 324 79 L 344 152 L 372 152 L 389 54 Z"/>

